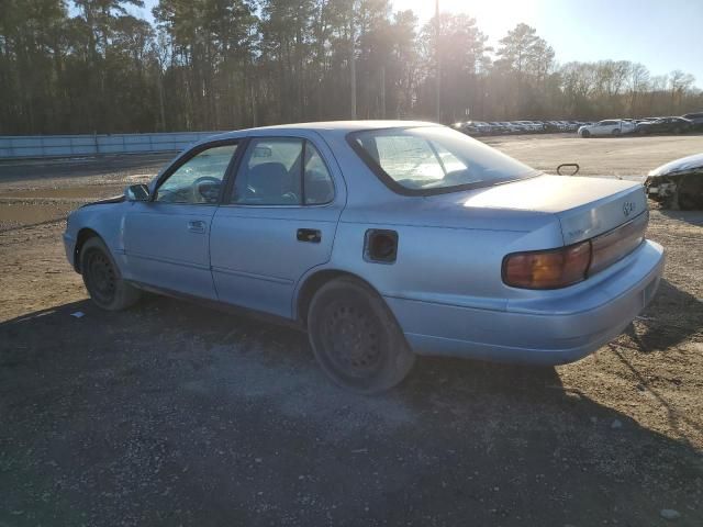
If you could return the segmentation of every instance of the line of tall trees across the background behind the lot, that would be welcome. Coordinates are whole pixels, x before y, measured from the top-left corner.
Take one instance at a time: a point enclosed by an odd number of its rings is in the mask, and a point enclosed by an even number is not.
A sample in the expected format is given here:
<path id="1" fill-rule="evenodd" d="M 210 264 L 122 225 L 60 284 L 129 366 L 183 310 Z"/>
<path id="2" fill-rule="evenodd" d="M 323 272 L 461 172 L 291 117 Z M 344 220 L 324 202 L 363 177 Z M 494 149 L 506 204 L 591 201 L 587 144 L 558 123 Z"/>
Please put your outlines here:
<path id="1" fill-rule="evenodd" d="M 689 74 L 558 64 L 526 24 L 490 47 L 468 14 L 419 25 L 390 0 L 159 0 L 153 23 L 131 7 L 143 1 L 0 0 L 0 134 L 703 110 Z"/>

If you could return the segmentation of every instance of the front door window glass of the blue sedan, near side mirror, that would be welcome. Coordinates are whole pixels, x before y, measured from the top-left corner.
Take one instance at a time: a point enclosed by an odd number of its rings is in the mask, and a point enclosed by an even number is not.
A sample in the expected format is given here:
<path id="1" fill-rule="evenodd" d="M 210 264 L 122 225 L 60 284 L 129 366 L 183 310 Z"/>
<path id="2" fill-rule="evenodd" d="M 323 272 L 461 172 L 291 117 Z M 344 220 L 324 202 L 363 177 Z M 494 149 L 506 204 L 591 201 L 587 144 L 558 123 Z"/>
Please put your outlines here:
<path id="1" fill-rule="evenodd" d="M 208 148 L 171 173 L 157 189 L 161 203 L 216 204 L 236 144 Z"/>

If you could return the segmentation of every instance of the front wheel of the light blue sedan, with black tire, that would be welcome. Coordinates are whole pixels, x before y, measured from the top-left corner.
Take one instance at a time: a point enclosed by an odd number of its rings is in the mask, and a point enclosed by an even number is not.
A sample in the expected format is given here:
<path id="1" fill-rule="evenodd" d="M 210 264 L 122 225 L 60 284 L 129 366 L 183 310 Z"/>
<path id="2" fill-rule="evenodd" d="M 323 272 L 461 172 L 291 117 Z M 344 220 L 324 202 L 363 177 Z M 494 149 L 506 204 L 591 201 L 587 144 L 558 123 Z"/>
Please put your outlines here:
<path id="1" fill-rule="evenodd" d="M 86 240 L 80 249 L 80 273 L 91 300 L 108 311 L 134 305 L 141 291 L 122 280 L 120 270 L 105 244 L 98 237 Z"/>

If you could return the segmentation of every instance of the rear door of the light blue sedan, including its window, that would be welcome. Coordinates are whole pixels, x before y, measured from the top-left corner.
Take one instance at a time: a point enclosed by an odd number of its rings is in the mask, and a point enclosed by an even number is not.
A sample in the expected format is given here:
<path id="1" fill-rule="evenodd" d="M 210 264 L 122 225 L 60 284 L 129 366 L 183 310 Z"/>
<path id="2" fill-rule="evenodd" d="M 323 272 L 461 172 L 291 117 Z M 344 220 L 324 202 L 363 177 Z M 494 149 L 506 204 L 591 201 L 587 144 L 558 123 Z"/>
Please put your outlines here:
<path id="1" fill-rule="evenodd" d="M 342 175 L 316 134 L 248 141 L 212 222 L 212 274 L 221 301 L 284 317 L 297 282 L 326 262 L 344 208 Z"/>

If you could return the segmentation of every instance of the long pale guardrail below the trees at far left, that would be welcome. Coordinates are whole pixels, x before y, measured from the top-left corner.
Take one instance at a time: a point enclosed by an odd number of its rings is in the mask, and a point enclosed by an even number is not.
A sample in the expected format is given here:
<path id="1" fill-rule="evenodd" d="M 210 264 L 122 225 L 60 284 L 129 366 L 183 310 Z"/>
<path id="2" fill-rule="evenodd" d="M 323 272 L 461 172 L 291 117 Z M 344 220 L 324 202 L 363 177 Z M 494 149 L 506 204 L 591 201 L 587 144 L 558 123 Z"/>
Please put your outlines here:
<path id="1" fill-rule="evenodd" d="M 0 136 L 0 159 L 182 150 L 220 132 Z"/>

